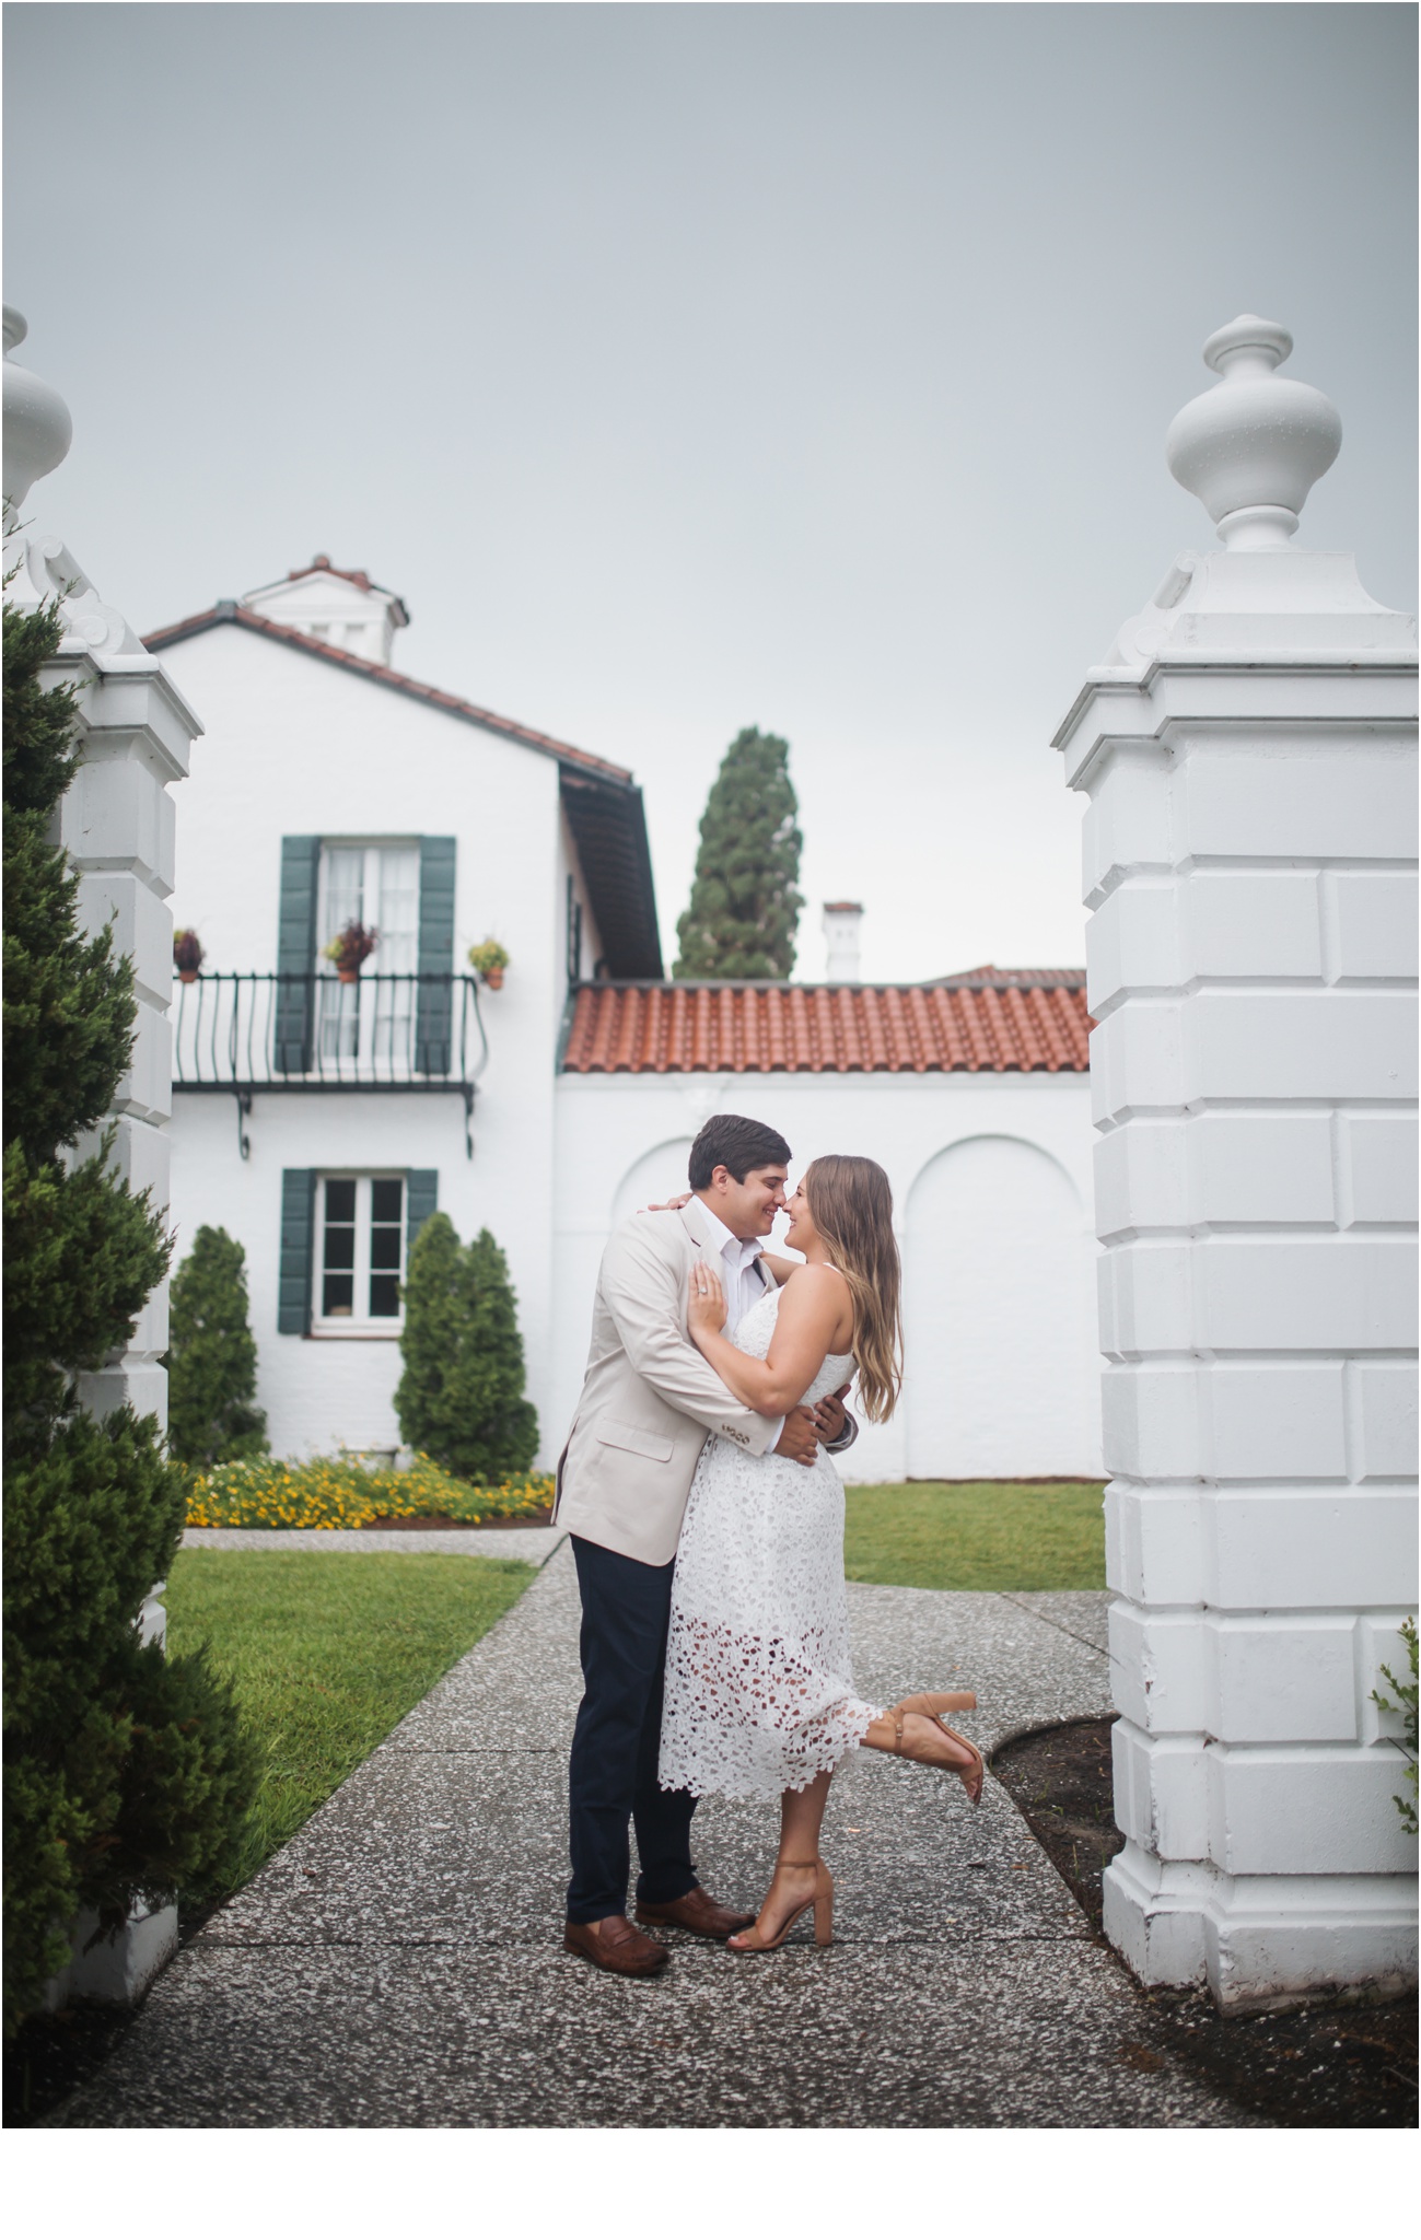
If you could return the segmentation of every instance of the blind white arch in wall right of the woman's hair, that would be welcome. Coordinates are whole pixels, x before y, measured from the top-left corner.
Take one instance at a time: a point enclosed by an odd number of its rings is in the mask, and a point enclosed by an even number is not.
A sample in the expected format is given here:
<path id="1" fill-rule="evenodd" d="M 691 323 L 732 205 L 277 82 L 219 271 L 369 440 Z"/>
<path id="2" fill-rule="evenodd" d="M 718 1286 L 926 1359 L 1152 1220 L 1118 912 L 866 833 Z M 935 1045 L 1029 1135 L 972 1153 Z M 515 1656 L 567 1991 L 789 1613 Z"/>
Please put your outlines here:
<path id="1" fill-rule="evenodd" d="M 908 1194 L 908 1476 L 1056 1478 L 1100 1467 L 1094 1239 L 1038 1145 L 970 1136 Z"/>

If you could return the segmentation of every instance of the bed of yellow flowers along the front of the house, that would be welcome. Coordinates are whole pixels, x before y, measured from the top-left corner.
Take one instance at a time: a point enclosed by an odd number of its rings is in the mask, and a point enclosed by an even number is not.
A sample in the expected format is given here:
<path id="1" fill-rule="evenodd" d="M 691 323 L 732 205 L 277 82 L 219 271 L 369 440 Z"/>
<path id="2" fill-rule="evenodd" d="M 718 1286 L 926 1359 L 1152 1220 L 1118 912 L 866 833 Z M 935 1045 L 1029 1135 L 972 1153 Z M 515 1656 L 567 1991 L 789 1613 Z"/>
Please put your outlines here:
<path id="1" fill-rule="evenodd" d="M 191 1525 L 350 1532 L 372 1516 L 536 1516 L 554 1499 L 551 1476 L 529 1472 L 502 1485 L 466 1485 L 415 1456 L 410 1469 L 368 1469 L 356 1456 L 314 1463 L 222 1463 L 188 1487 Z"/>

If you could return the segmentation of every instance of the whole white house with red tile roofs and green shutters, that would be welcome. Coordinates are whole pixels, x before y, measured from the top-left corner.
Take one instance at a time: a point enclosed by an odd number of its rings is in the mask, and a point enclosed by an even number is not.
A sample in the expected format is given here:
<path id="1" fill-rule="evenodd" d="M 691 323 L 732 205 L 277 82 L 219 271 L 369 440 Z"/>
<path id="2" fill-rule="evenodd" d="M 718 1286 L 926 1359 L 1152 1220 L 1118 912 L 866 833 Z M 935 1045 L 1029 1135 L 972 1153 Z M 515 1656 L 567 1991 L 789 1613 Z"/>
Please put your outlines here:
<path id="1" fill-rule="evenodd" d="M 247 1248 L 276 1452 L 399 1445 L 397 1279 L 437 1205 L 509 1254 L 551 1465 L 601 1248 L 728 1109 L 892 1178 L 908 1387 L 858 1476 L 1096 1476 L 1085 974 L 861 988 L 834 905 L 823 986 L 672 988 L 632 775 L 392 668 L 406 620 L 321 556 L 146 641 L 206 728 L 173 1221 L 179 1254 L 204 1221 Z M 381 939 L 343 988 L 350 918 Z"/>

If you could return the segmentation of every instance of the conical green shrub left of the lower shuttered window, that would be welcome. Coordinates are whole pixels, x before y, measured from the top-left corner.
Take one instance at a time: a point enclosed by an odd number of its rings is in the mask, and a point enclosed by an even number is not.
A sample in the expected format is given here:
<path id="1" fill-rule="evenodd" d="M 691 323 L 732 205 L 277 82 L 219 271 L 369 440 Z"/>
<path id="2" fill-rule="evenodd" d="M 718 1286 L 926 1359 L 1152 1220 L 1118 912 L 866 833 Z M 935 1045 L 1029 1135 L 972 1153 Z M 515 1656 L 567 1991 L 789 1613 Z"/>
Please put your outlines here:
<path id="1" fill-rule="evenodd" d="M 197 1469 L 267 1454 L 247 1254 L 226 1230 L 206 1225 L 173 1277 L 168 1301 L 168 1454 Z"/>

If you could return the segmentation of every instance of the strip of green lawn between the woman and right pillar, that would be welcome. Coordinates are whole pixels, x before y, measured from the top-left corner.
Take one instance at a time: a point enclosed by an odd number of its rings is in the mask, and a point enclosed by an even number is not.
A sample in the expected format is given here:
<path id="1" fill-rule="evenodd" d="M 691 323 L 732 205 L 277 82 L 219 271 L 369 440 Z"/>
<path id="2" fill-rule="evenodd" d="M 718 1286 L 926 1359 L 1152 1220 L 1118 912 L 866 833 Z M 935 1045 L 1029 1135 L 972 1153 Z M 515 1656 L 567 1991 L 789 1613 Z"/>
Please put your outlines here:
<path id="1" fill-rule="evenodd" d="M 843 1568 L 870 1586 L 1105 1586 L 1100 1485 L 849 1485 Z"/>

